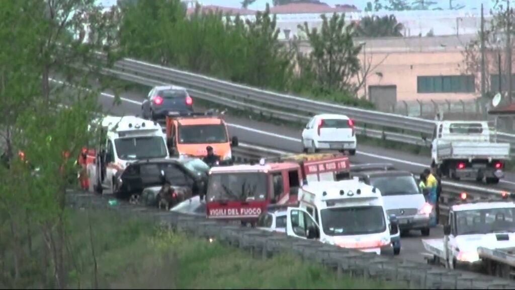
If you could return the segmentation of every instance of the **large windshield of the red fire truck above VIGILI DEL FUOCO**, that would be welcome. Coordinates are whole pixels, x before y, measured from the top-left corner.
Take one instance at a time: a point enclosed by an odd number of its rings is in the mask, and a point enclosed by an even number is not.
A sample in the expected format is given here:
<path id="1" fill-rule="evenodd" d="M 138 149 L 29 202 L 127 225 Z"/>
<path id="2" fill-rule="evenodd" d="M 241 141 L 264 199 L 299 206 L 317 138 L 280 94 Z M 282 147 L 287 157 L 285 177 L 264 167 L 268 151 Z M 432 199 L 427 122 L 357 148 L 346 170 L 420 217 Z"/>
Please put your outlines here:
<path id="1" fill-rule="evenodd" d="M 216 173 L 209 178 L 208 201 L 262 201 L 267 188 L 266 173 Z"/>

